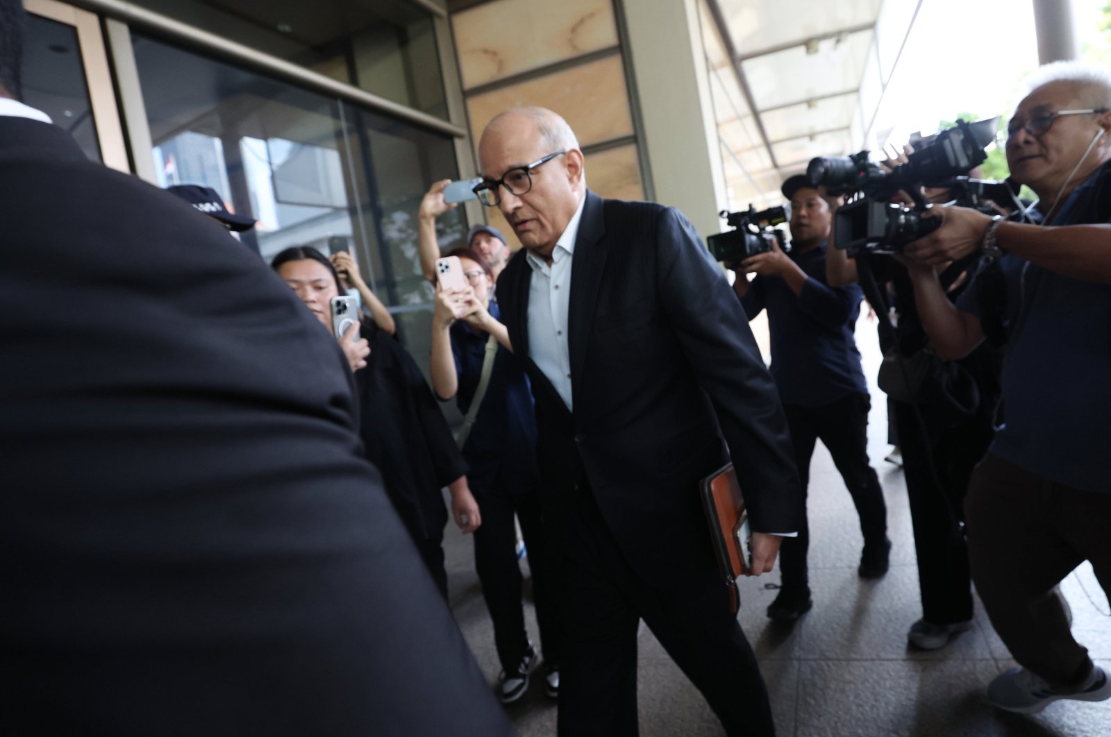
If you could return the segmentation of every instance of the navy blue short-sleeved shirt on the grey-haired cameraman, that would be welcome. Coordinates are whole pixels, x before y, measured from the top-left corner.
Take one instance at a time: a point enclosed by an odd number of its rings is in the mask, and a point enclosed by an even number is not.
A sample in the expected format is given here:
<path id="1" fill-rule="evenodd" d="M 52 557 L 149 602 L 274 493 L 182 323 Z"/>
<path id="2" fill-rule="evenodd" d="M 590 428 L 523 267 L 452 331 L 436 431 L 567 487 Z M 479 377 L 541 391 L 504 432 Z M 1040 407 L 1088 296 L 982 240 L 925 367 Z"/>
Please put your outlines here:
<path id="1" fill-rule="evenodd" d="M 1078 186 L 1048 224 L 1107 222 L 1111 162 Z M 1007 292 L 1007 421 L 990 451 L 1059 484 L 1109 493 L 1111 284 L 1063 276 L 1013 254 L 1003 255 L 1000 266 Z M 979 317 L 983 299 L 974 281 L 957 305 Z"/>

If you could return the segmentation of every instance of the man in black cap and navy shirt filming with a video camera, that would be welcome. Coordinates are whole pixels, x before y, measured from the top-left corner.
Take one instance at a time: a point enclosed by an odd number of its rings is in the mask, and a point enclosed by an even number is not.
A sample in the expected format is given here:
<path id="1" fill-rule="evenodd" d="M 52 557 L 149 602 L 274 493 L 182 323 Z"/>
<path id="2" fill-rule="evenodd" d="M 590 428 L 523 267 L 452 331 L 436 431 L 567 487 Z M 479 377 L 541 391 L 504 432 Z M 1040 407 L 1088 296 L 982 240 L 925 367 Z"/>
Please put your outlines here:
<path id="1" fill-rule="evenodd" d="M 883 489 L 868 461 L 868 411 L 871 401 L 853 327 L 863 299 L 855 284 L 830 287 L 825 281 L 825 244 L 832 210 L 823 193 L 805 176 L 783 183 L 791 201 L 790 253 L 772 250 L 730 264 L 737 271 L 733 291 L 749 320 L 768 311 L 771 374 L 779 388 L 794 445 L 799 477 L 805 491 L 814 442 L 821 438 L 860 515 L 864 551 L 861 577 L 888 571 Z M 757 274 L 749 282 L 744 274 Z M 813 605 L 807 576 L 810 537 L 805 517 L 798 537 L 783 539 L 780 572 L 783 587 L 768 607 L 777 622 L 794 622 Z"/>

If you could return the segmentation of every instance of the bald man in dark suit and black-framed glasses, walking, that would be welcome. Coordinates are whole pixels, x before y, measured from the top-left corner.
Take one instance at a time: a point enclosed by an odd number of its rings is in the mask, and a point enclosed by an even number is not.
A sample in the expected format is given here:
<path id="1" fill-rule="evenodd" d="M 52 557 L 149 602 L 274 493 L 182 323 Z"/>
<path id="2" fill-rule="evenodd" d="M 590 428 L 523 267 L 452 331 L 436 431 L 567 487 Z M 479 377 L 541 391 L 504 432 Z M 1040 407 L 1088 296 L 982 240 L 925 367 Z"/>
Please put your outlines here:
<path id="1" fill-rule="evenodd" d="M 731 455 L 753 572 L 771 571 L 802 497 L 744 313 L 682 214 L 587 190 L 582 152 L 556 113 L 502 113 L 479 158 L 480 199 L 524 245 L 498 293 L 537 395 L 565 637 L 560 734 L 637 734 L 638 619 L 729 734 L 772 734 L 698 495 Z"/>

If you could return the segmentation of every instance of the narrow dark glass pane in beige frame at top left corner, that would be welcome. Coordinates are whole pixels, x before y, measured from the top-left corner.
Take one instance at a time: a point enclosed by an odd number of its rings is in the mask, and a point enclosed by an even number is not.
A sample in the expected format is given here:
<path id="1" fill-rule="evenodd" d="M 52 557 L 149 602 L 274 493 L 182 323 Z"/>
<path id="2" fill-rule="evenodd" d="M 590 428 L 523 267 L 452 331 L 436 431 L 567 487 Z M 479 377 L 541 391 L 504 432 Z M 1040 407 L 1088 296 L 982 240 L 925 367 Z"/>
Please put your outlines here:
<path id="1" fill-rule="evenodd" d="M 72 26 L 28 13 L 23 102 L 66 129 L 89 159 L 101 160 L 81 47 Z"/>

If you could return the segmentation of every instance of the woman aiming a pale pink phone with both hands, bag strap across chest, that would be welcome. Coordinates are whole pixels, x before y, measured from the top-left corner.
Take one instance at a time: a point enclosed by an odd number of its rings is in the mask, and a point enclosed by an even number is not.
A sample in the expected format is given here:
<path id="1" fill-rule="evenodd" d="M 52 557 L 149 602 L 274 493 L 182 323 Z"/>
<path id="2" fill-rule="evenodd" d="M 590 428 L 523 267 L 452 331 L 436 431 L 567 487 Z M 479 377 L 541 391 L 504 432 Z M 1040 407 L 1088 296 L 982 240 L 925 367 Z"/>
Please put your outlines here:
<path id="1" fill-rule="evenodd" d="M 493 620 L 494 645 L 502 667 L 498 696 L 503 703 L 521 698 L 537 663 L 536 649 L 524 628 L 516 514 L 532 572 L 547 668 L 544 689 L 554 698 L 559 695 L 560 640 L 552 600 L 554 582 L 548 575 L 540 521 L 532 392 L 523 366 L 513 357 L 506 326 L 498 320 L 498 305 L 490 301 L 493 289 L 490 267 L 471 249 L 457 249 L 451 256 L 459 260 L 464 284 L 437 287 L 432 387 L 441 400 L 457 397 L 459 410 L 473 417 L 463 442 L 463 457 L 482 511 L 482 528 L 474 534 L 474 567 Z M 453 266 L 449 264 L 442 271 L 452 272 Z M 441 270 L 438 267 L 437 272 Z M 488 374 L 487 388 L 477 396 L 483 373 Z"/>

